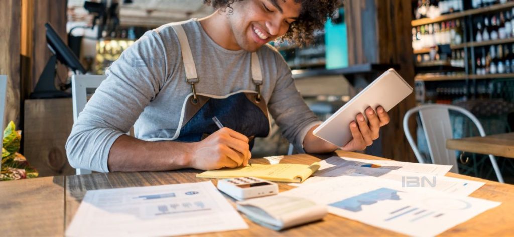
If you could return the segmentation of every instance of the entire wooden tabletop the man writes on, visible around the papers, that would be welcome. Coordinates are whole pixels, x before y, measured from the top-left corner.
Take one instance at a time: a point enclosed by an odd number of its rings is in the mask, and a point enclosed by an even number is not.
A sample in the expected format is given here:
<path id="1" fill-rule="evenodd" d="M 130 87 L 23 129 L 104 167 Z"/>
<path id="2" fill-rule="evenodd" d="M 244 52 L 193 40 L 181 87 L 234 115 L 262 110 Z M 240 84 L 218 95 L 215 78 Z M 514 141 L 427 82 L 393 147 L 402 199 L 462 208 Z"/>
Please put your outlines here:
<path id="1" fill-rule="evenodd" d="M 380 157 L 353 152 L 338 151 L 338 155 L 361 159 L 385 160 Z M 286 156 L 281 163 L 311 164 L 329 156 L 292 155 Z M 264 159 L 253 159 L 255 164 L 267 164 Z M 87 190 L 142 187 L 153 185 L 168 185 L 178 183 L 193 183 L 207 181 L 197 179 L 199 171 L 185 169 L 173 172 L 136 172 L 136 173 L 94 173 L 88 175 L 71 175 L 63 177 L 48 177 L 25 181 L 10 181 L 0 183 L 0 235 L 15 236 L 62 236 L 65 227 L 69 226 L 80 206 Z M 481 189 L 470 196 L 482 198 L 503 204 L 491 209 L 470 221 L 446 231 L 442 235 L 514 235 L 514 186 L 481 180 L 465 175 L 448 173 L 447 176 L 461 179 L 486 182 Z M 215 180 L 212 180 L 216 183 Z M 64 187 L 63 187 L 64 183 Z M 293 187 L 279 184 L 280 191 Z M 7 191 L 7 192 L 5 192 Z M 12 192 L 12 193 L 11 193 Z M 227 199 L 233 204 L 233 200 Z M 7 213 L 6 213 L 7 212 Z M 344 236 L 365 235 L 383 236 L 399 235 L 388 230 L 379 229 L 356 221 L 328 215 L 321 222 L 316 222 L 281 232 L 269 230 L 250 222 L 247 230 L 212 233 L 215 236 Z M 207 235 L 207 234 L 206 234 Z"/>

